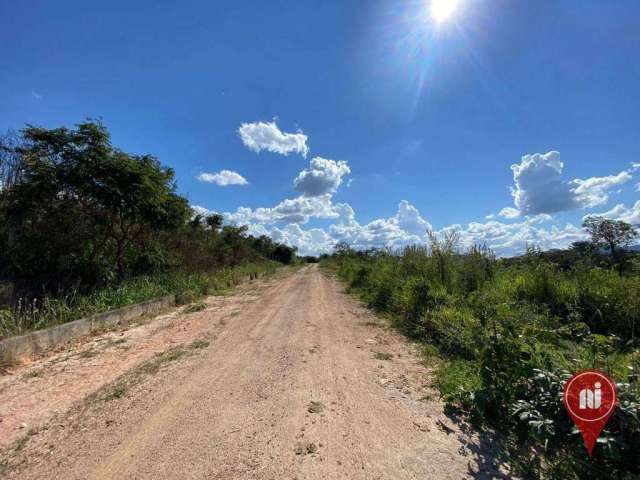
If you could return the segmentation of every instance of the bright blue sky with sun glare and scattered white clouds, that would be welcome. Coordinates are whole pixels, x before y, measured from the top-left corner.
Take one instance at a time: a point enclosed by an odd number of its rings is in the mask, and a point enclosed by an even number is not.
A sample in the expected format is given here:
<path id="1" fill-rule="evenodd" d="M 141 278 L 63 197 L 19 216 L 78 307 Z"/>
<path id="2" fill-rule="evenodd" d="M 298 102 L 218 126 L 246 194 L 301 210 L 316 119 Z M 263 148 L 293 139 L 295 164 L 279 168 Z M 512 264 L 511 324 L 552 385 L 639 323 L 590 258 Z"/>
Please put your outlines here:
<path id="1" fill-rule="evenodd" d="M 640 223 L 640 3 L 457 3 L 2 2 L 0 131 L 101 118 L 302 253 Z"/>

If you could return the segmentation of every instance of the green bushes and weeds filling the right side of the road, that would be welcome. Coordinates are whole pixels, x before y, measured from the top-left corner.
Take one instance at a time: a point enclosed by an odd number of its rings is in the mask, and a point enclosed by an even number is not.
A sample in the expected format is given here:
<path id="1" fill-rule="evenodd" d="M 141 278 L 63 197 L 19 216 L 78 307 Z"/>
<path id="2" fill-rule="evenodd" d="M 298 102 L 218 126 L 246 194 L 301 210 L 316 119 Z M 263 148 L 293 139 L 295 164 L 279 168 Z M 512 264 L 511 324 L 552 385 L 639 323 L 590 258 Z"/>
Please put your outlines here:
<path id="1" fill-rule="evenodd" d="M 590 242 L 512 259 L 461 252 L 449 233 L 401 251 L 339 244 L 322 263 L 424 345 L 449 412 L 500 432 L 517 475 L 637 479 L 640 257 L 625 249 L 636 232 L 599 217 L 584 226 Z M 582 369 L 611 375 L 620 400 L 593 459 L 562 403 Z"/>

